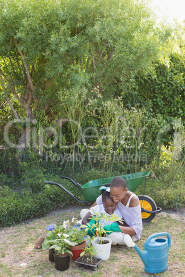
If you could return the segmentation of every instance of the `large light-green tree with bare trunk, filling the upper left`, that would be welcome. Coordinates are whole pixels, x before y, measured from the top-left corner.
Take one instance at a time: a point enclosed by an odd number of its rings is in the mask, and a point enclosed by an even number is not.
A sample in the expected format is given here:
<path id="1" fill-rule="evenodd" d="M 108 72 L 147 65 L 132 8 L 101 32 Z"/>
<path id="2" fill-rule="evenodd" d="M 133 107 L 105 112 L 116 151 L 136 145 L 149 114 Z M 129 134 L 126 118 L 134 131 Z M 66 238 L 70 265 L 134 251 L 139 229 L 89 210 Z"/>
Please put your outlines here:
<path id="1" fill-rule="evenodd" d="M 19 150 L 32 124 L 62 124 L 59 92 L 119 94 L 158 52 L 147 1 L 1 0 L 0 17 L 1 92 L 23 125 Z"/>

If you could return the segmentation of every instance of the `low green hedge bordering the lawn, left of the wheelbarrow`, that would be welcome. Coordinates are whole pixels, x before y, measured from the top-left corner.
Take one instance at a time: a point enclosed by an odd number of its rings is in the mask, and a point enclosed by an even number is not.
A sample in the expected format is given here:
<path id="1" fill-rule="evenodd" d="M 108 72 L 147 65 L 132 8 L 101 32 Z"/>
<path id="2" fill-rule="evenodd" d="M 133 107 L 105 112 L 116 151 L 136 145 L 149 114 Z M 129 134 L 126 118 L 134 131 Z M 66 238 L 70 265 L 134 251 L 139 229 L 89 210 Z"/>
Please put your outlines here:
<path id="1" fill-rule="evenodd" d="M 73 203 L 71 197 L 58 187 L 44 185 L 43 191 L 33 194 L 28 189 L 14 192 L 8 186 L 0 186 L 0 226 L 41 216 L 60 203 Z"/>

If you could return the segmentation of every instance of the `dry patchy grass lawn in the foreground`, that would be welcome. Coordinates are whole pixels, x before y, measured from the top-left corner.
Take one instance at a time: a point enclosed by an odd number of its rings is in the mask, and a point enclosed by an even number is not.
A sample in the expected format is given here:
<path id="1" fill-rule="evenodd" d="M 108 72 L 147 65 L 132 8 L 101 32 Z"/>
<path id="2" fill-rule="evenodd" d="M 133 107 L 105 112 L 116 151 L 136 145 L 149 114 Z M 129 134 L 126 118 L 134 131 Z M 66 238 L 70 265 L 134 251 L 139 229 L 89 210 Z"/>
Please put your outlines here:
<path id="1" fill-rule="evenodd" d="M 144 251 L 144 242 L 151 234 L 168 232 L 171 235 L 171 248 L 168 253 L 168 269 L 160 274 L 147 274 L 144 264 L 133 248 L 112 245 L 110 258 L 101 261 L 97 271 L 79 269 L 70 259 L 67 271 L 57 271 L 54 263 L 48 260 L 48 250 L 34 248 L 37 239 L 46 231 L 46 226 L 57 225 L 66 219 L 77 217 L 80 209 L 55 216 L 45 216 L 0 229 L 0 276 L 185 276 L 184 221 L 172 218 L 170 214 L 157 214 L 150 223 L 144 223 L 142 238 L 137 246 Z"/>

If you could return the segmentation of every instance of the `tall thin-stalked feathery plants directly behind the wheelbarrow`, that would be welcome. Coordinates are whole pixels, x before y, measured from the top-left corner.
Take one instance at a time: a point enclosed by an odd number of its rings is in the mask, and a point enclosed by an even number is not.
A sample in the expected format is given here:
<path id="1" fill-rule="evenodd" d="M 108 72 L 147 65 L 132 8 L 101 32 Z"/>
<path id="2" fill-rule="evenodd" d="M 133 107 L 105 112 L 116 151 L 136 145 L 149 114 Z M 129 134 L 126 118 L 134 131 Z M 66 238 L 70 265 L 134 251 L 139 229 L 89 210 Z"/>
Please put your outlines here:
<path id="1" fill-rule="evenodd" d="M 158 145 L 164 137 L 161 138 L 160 133 L 167 124 L 162 116 L 158 114 L 153 118 L 145 108 L 128 110 L 121 97 L 104 101 L 98 87 L 92 90 L 91 96 L 83 91 L 82 95 L 79 101 L 79 94 L 73 97 L 78 105 L 70 101 L 72 113 L 68 114 L 71 125 L 68 137 L 73 142 L 68 152 L 73 160 L 78 154 L 82 174 L 85 159 L 89 167 L 101 167 L 102 176 L 106 176 L 115 170 L 125 174 L 139 172 L 153 156 L 157 156 Z M 79 105 L 81 110 L 78 110 Z M 60 149 L 64 150 L 64 147 Z"/>

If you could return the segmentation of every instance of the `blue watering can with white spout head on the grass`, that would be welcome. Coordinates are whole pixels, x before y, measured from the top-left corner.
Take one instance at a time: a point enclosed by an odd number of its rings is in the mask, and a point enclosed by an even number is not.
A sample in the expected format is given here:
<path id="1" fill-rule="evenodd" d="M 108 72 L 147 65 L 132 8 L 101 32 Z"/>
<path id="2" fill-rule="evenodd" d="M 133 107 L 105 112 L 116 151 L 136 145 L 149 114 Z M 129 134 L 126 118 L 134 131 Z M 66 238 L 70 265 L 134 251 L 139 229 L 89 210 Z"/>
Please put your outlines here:
<path id="1" fill-rule="evenodd" d="M 167 236 L 159 238 L 159 236 Z M 144 243 L 142 252 L 129 235 L 124 236 L 128 247 L 134 247 L 144 263 L 144 270 L 148 273 L 159 273 L 168 268 L 168 250 L 171 246 L 171 236 L 168 233 L 157 233 L 149 236 Z"/>

